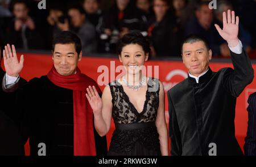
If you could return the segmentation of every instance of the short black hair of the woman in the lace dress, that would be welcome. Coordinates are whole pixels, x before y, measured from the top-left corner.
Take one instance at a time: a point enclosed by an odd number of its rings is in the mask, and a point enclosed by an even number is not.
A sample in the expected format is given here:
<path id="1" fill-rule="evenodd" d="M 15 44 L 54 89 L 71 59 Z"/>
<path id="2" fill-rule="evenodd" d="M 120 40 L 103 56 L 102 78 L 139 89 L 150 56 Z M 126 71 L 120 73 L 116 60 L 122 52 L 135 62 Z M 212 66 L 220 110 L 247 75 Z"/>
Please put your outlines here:
<path id="1" fill-rule="evenodd" d="M 147 37 L 144 37 L 141 32 L 134 31 L 124 35 L 119 40 L 117 53 L 121 54 L 123 47 L 129 44 L 138 44 L 142 46 L 145 54 L 150 53 L 150 41 Z"/>

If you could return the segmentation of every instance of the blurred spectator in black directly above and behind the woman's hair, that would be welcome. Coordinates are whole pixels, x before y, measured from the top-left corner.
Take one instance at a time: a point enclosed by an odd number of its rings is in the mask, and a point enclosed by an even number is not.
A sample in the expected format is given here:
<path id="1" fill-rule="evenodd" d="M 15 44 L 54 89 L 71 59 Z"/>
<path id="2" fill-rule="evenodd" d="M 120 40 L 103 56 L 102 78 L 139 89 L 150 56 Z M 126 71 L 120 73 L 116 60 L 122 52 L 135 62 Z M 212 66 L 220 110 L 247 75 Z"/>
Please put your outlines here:
<path id="1" fill-rule="evenodd" d="M 142 31 L 146 36 L 146 16 L 132 1 L 116 0 L 114 5 L 104 15 L 101 34 L 102 52 L 116 53 L 119 38 L 129 31 Z"/>

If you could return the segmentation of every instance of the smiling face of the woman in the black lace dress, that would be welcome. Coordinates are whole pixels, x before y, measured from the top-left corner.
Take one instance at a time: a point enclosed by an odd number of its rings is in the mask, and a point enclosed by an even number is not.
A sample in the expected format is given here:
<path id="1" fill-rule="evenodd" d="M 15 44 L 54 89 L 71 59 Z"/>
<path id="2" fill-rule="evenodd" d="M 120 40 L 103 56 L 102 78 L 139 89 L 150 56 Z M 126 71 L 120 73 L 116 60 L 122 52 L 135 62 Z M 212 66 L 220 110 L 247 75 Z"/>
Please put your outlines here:
<path id="1" fill-rule="evenodd" d="M 123 46 L 119 60 L 126 68 L 126 72 L 129 75 L 139 74 L 141 66 L 148 59 L 148 53 L 144 53 L 141 45 L 129 44 Z"/>

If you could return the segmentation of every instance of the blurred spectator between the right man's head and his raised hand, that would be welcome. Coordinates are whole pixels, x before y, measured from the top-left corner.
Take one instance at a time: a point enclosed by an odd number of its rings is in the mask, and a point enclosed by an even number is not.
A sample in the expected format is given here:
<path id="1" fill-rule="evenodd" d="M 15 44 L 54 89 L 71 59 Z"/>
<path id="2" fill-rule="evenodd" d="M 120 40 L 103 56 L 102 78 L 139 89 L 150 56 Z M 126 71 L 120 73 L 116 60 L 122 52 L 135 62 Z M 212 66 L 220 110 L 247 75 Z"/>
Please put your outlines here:
<path id="1" fill-rule="evenodd" d="M 229 56 L 228 44 L 218 35 L 214 23 L 218 23 L 213 18 L 213 10 L 209 8 L 209 2 L 201 2 L 197 5 L 196 17 L 189 20 L 185 28 L 185 36 L 199 34 L 209 41 L 213 55 Z"/>

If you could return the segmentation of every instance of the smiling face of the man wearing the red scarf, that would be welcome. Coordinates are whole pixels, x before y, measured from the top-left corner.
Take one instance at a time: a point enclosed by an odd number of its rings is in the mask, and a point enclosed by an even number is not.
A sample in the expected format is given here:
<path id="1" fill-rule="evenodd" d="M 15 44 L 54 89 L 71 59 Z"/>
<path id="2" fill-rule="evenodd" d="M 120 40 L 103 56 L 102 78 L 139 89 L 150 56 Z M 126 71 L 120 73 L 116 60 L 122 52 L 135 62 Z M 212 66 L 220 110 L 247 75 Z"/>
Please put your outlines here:
<path id="1" fill-rule="evenodd" d="M 81 61 L 82 52 L 76 52 L 75 44 L 56 44 L 53 50 L 53 64 L 56 71 L 63 76 L 76 73 L 77 63 Z"/>

